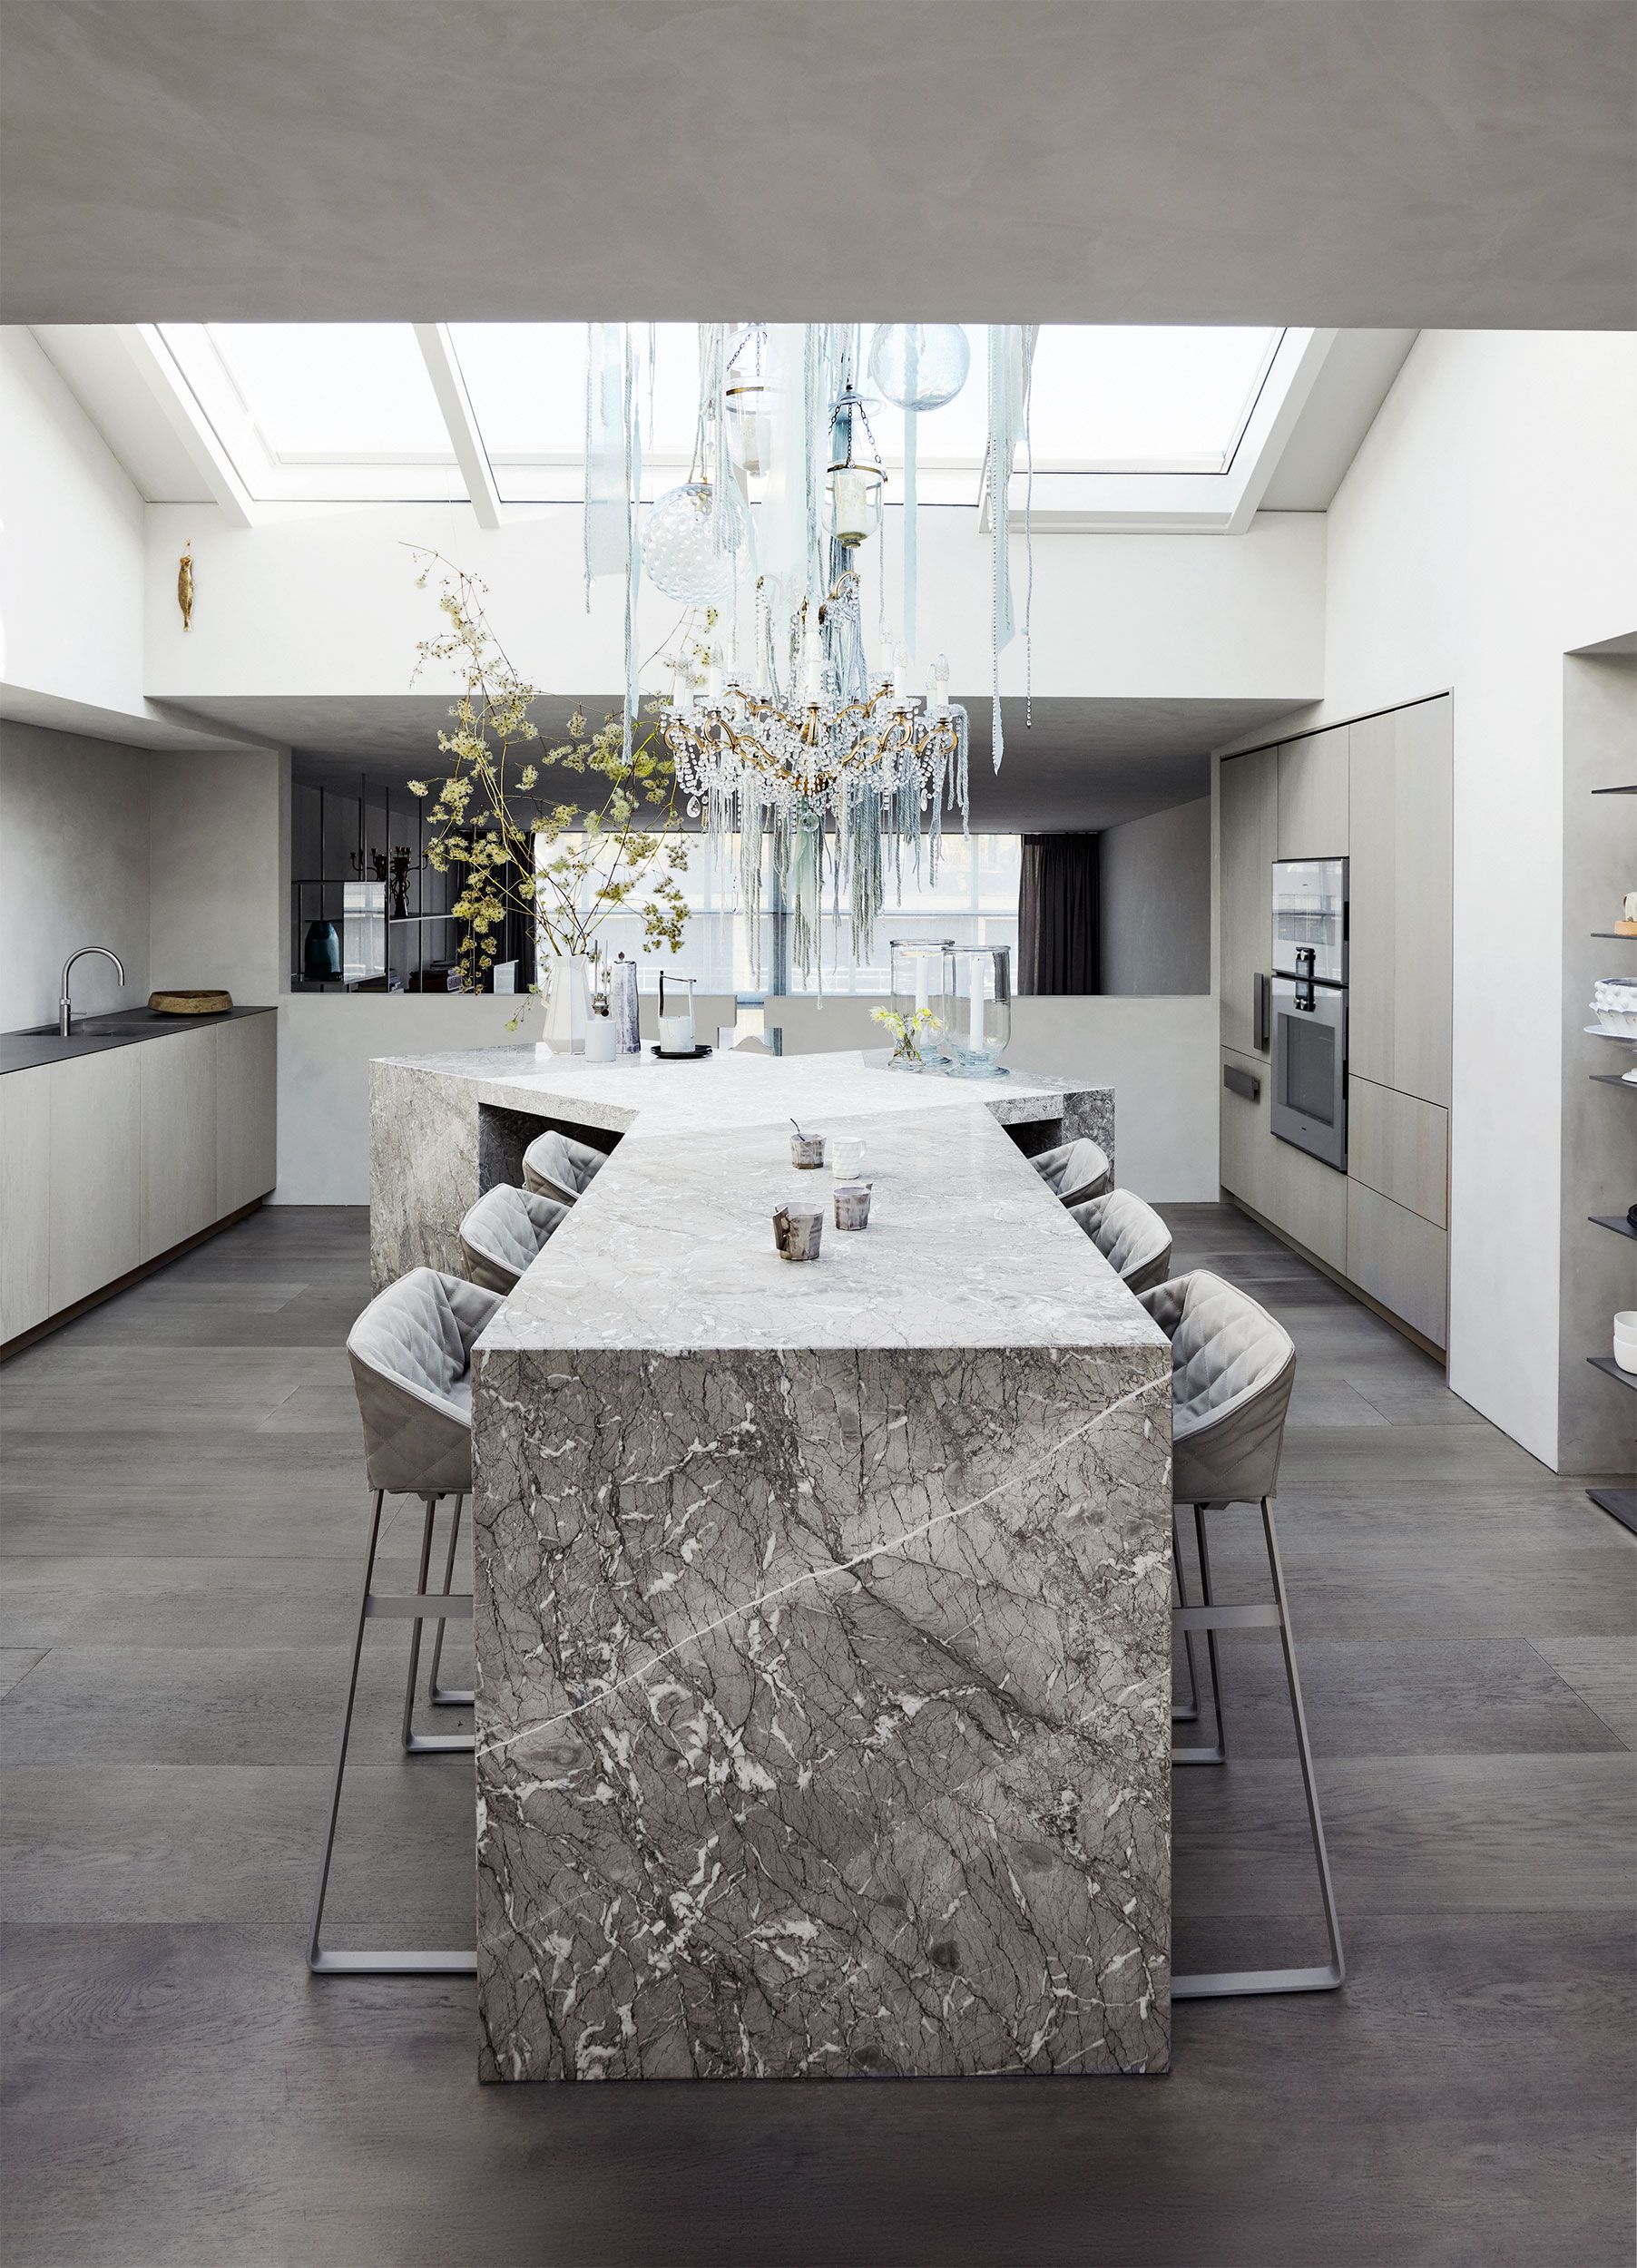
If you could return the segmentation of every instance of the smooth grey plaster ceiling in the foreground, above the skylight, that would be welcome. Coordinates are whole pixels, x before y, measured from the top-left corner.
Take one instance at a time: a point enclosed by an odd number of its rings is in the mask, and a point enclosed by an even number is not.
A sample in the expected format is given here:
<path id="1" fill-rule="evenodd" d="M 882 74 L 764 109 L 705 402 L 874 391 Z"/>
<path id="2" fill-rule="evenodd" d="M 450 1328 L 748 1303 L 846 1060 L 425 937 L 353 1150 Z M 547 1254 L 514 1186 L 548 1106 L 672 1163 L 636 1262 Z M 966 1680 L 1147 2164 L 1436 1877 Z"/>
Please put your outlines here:
<path id="1" fill-rule="evenodd" d="M 1630 0 L 9 0 L 5 304 L 1630 324 L 1635 93 Z"/>

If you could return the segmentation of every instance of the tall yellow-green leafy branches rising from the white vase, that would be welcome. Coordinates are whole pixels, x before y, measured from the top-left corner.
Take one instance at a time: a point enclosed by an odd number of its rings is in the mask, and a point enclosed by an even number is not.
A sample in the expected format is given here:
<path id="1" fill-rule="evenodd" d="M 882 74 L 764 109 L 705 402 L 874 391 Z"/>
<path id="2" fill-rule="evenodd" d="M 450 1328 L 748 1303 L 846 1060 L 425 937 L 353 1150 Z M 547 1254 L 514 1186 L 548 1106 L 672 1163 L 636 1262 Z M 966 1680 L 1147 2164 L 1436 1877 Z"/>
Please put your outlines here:
<path id="1" fill-rule="evenodd" d="M 687 923 L 676 880 L 687 869 L 687 841 L 676 764 L 658 723 L 642 735 L 633 730 L 626 755 L 621 710 L 596 730 L 576 710 L 569 739 L 540 755 L 531 710 L 542 696 L 490 628 L 487 587 L 438 551 L 415 547 L 415 556 L 417 590 L 438 572 L 447 624 L 438 637 L 419 640 L 415 674 L 453 662 L 463 687 L 449 728 L 438 735 L 447 776 L 435 794 L 431 780 L 408 782 L 413 796 L 433 796 L 426 864 L 460 878 L 449 912 L 463 925 L 463 989 L 481 991 L 508 912 L 533 919 L 540 950 L 585 953 L 596 925 L 626 907 L 639 914 L 648 950 L 676 953 Z M 578 773 L 585 796 L 549 798 L 542 767 L 553 776 Z M 551 855 L 540 855 L 540 844 Z"/>

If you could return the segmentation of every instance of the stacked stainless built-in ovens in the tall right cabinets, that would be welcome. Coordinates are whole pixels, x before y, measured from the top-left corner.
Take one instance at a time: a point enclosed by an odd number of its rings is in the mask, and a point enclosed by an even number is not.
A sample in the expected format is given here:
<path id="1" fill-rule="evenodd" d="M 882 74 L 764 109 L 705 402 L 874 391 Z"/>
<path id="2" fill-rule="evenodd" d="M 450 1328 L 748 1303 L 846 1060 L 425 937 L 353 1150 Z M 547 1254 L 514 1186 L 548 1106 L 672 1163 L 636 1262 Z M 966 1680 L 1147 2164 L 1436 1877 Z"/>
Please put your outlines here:
<path id="1" fill-rule="evenodd" d="M 1347 860 L 1274 862 L 1272 1093 L 1279 1141 L 1347 1173 Z"/>

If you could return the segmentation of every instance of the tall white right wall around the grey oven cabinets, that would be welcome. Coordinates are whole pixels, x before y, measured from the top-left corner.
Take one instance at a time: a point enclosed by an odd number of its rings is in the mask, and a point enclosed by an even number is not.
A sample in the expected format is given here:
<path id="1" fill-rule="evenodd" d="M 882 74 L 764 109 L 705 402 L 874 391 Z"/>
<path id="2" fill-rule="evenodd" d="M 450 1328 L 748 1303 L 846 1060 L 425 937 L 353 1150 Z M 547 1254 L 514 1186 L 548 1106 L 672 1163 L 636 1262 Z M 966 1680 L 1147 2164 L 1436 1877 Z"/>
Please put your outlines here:
<path id="1" fill-rule="evenodd" d="M 1422 331 L 1329 513 L 1324 701 L 1290 719 L 1453 689 L 1449 1383 L 1549 1465 L 1562 667 L 1637 626 L 1635 401 L 1630 333 Z"/>

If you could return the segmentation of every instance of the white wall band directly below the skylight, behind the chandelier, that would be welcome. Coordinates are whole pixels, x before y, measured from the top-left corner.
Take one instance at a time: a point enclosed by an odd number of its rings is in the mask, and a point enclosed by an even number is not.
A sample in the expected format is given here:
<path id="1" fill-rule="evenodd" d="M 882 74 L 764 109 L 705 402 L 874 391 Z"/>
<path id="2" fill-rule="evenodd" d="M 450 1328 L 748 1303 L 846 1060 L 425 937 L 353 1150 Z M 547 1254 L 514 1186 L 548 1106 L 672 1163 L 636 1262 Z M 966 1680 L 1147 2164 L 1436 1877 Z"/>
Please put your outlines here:
<path id="1" fill-rule="evenodd" d="M 896 519 L 896 515 L 891 515 Z M 193 628 L 177 612 L 177 553 L 193 542 Z M 147 692 L 154 699 L 442 692 L 415 678 L 417 640 L 442 626 L 415 587 L 413 544 L 442 549 L 490 587 L 490 621 L 544 692 L 624 687 L 621 610 L 599 585 L 585 610 L 578 506 L 540 506 L 483 531 L 465 503 L 281 506 L 254 528 L 215 510 L 147 513 Z M 896 576 L 898 531 L 887 553 Z M 1020 547 L 1013 553 L 1023 599 Z M 873 578 L 871 567 L 871 578 Z M 921 624 L 955 660 L 957 696 L 986 689 L 989 567 L 970 510 L 932 510 L 921 540 Z M 875 606 L 873 581 L 866 603 Z M 268 626 L 283 635 L 268 635 Z M 676 608 L 642 596 L 644 651 Z M 299 635 L 290 635 L 299 626 Z M 1324 519 L 1265 513 L 1222 535 L 1038 535 L 1034 692 L 1050 696 L 1290 699 L 1320 689 Z M 655 680 L 658 683 L 658 680 Z M 1023 640 L 1002 685 L 1025 685 Z"/>

